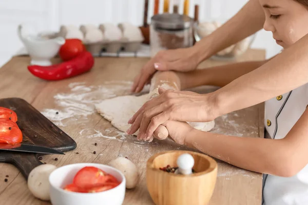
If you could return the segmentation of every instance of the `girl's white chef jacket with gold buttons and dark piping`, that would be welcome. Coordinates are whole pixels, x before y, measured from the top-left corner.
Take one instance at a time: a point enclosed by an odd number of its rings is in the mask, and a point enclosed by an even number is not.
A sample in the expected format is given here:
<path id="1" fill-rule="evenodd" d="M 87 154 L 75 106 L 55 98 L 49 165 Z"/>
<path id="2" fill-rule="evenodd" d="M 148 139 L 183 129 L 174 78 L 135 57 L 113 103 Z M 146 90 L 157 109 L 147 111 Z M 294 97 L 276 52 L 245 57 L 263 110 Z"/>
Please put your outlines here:
<path id="1" fill-rule="evenodd" d="M 306 110 L 307 105 L 308 84 L 267 100 L 264 123 L 269 137 L 284 138 Z M 306 146 L 308 149 L 308 145 Z M 295 176 L 265 175 L 263 181 L 263 205 L 308 204 L 308 165 Z"/>

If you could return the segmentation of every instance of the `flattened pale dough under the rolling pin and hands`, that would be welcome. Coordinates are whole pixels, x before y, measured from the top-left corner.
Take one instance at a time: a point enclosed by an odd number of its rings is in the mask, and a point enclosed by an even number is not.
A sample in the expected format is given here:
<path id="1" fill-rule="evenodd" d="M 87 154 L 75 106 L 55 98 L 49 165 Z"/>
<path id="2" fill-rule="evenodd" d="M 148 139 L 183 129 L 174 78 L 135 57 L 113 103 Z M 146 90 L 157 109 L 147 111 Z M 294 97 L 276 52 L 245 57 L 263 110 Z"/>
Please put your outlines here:
<path id="1" fill-rule="evenodd" d="M 132 117 L 146 101 L 153 96 L 158 95 L 158 89 L 141 96 L 119 96 L 103 100 L 100 104 L 95 105 L 95 109 L 105 119 L 111 122 L 111 125 L 122 132 L 126 132 L 130 127 L 128 120 Z M 210 131 L 215 126 L 215 121 L 209 122 L 188 122 L 188 124 L 198 130 Z M 139 130 L 133 135 L 137 136 Z"/>

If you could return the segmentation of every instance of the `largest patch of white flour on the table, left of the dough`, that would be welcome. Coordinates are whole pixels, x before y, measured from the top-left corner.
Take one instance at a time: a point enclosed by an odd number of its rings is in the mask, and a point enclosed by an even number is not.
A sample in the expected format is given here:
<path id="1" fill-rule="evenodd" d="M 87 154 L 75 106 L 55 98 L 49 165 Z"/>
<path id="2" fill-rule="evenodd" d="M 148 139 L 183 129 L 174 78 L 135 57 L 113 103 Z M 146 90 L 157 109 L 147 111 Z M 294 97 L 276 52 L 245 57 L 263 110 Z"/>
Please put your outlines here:
<path id="1" fill-rule="evenodd" d="M 100 86 L 87 86 L 85 83 L 69 84 L 70 92 L 53 96 L 57 109 L 45 109 L 42 114 L 56 126 L 65 127 L 71 122 L 87 118 L 95 113 L 94 105 L 102 99 L 129 94 L 131 81 L 108 81 Z M 146 87 L 144 90 L 148 89 Z"/>

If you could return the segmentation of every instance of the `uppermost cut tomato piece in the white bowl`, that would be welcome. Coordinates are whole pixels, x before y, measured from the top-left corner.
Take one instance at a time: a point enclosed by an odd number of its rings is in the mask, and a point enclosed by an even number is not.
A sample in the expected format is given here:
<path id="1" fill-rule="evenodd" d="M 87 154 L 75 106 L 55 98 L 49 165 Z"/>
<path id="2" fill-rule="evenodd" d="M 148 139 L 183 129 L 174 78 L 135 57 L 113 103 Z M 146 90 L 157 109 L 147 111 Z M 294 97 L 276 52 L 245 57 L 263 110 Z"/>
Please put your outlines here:
<path id="1" fill-rule="evenodd" d="M 73 184 L 82 188 L 92 188 L 106 182 L 106 172 L 96 167 L 84 167 L 78 171 Z"/>

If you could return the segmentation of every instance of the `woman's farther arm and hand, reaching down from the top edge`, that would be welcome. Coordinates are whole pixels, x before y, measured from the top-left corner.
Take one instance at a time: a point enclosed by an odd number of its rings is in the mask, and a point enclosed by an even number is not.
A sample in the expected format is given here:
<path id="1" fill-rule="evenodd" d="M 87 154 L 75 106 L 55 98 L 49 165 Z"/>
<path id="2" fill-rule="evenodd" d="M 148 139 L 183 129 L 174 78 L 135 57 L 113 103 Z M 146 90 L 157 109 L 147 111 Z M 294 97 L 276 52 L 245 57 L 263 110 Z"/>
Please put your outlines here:
<path id="1" fill-rule="evenodd" d="M 131 91 L 140 92 L 157 70 L 195 70 L 203 60 L 262 29 L 264 21 L 259 1 L 250 0 L 235 16 L 194 46 L 158 52 L 135 77 Z"/>

